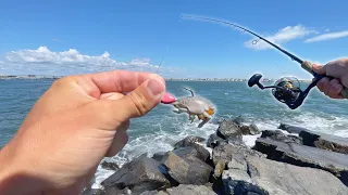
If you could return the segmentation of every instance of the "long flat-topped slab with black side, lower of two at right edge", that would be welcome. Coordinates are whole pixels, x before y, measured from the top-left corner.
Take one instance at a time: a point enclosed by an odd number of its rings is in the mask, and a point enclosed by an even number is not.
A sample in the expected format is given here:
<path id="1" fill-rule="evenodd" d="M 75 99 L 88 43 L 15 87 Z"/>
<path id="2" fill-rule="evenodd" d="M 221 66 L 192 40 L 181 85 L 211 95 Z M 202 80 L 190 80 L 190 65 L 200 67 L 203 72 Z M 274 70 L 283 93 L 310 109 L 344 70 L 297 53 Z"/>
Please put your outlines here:
<path id="1" fill-rule="evenodd" d="M 254 150 L 273 160 L 326 170 L 348 186 L 348 155 L 263 138 L 257 140 Z"/>

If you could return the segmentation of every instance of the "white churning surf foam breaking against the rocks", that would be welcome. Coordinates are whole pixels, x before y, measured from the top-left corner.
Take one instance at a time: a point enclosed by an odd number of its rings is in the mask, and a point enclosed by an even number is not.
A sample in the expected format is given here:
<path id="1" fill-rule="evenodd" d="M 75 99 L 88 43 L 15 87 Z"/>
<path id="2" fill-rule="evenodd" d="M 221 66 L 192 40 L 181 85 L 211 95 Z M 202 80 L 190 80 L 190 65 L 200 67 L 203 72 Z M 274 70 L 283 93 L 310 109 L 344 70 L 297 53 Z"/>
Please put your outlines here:
<path id="1" fill-rule="evenodd" d="M 348 117 L 335 117 L 327 115 L 319 116 L 302 112 L 295 117 L 289 116 L 282 120 L 256 118 L 252 122 L 261 131 L 275 130 L 278 128 L 281 122 L 284 122 L 313 131 L 348 138 Z M 175 128 L 175 130 L 169 131 L 165 127 L 162 127 L 163 123 L 170 123 L 171 127 Z M 246 125 L 249 125 L 249 122 Z M 161 122 L 153 125 L 153 127 L 160 130 L 130 140 L 123 151 L 121 151 L 116 156 L 109 158 L 109 160 L 115 161 L 120 167 L 122 167 L 125 162 L 130 161 L 144 153 L 148 153 L 148 156 L 151 157 L 154 153 L 171 151 L 173 150 L 173 144 L 188 135 L 198 135 L 208 140 L 209 135 L 214 133 L 219 127 L 213 123 L 206 123 L 202 128 L 197 128 L 197 126 L 198 122 L 189 123 L 187 120 L 183 120 L 179 117 L 164 116 L 164 118 L 161 119 Z M 129 131 L 133 130 L 129 129 Z M 282 132 L 285 134 L 294 134 L 283 130 Z M 244 135 L 243 141 L 246 145 L 252 147 L 254 145 L 254 141 L 260 138 L 260 135 L 261 133 L 256 135 Z M 207 147 L 204 144 L 201 145 L 204 146 L 210 154 L 212 153 L 210 147 Z M 102 169 L 99 166 L 96 172 L 96 183 L 92 187 L 101 187 L 100 182 L 113 173 L 114 171 Z"/>

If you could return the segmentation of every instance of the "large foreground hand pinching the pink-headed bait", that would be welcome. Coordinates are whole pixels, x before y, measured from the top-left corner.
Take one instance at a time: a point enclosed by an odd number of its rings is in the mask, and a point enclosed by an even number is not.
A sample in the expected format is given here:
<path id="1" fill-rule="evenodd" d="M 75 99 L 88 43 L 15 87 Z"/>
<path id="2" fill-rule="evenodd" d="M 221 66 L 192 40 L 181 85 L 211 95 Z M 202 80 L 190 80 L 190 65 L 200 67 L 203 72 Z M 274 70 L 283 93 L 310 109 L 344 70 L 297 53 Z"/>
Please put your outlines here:
<path id="1" fill-rule="evenodd" d="M 79 194 L 164 92 L 163 78 L 125 70 L 54 81 L 0 151 L 0 194 Z"/>

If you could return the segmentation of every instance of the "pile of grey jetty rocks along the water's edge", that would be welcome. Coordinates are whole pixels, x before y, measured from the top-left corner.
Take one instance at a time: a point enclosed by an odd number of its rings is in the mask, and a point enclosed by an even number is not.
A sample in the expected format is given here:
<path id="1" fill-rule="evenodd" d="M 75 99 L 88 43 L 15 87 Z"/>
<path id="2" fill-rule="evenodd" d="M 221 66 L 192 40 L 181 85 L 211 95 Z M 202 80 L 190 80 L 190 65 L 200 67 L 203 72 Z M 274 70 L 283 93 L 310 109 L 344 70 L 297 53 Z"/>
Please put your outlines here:
<path id="1" fill-rule="evenodd" d="M 287 132 L 286 132 L 287 131 Z M 254 146 L 243 135 L 259 134 Z M 222 119 L 209 138 L 187 136 L 172 151 L 144 154 L 83 195 L 346 195 L 348 139 L 281 123 L 263 130 Z M 211 151 L 211 152 L 209 152 Z"/>

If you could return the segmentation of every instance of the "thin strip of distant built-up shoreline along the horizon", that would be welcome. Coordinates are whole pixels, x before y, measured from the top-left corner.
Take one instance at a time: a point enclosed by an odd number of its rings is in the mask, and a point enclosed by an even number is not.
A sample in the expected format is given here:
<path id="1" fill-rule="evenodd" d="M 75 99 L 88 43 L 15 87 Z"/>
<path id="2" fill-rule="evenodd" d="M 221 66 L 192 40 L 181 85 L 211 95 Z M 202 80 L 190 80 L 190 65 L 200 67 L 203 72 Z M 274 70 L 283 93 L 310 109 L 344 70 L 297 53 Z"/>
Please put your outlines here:
<path id="1" fill-rule="evenodd" d="M 0 75 L 0 80 L 38 80 L 38 79 L 60 79 L 63 76 L 38 76 L 38 75 Z M 217 81 L 217 82 L 247 82 L 248 79 L 240 78 L 165 78 L 166 81 Z M 275 82 L 276 79 L 262 79 L 262 82 Z M 299 80 L 300 82 L 311 82 L 311 80 Z"/>

